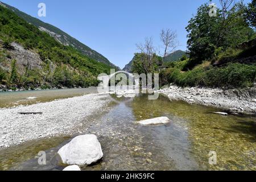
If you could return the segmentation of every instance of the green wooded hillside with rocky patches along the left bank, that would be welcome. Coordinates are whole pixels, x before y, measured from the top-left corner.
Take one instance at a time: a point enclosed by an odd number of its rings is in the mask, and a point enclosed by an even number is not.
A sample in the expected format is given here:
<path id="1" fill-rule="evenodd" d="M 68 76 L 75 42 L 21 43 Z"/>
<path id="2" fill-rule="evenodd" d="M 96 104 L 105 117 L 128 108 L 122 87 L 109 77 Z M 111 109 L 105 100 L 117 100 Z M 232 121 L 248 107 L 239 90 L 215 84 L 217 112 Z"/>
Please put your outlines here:
<path id="1" fill-rule="evenodd" d="M 110 72 L 109 65 L 64 46 L 11 10 L 0 6 L 0 11 L 0 86 L 7 89 L 96 86 L 97 76 Z M 42 63 L 32 66 L 34 60 L 28 57 L 26 63 L 20 64 L 11 56 L 15 55 L 13 43 L 39 55 Z"/>

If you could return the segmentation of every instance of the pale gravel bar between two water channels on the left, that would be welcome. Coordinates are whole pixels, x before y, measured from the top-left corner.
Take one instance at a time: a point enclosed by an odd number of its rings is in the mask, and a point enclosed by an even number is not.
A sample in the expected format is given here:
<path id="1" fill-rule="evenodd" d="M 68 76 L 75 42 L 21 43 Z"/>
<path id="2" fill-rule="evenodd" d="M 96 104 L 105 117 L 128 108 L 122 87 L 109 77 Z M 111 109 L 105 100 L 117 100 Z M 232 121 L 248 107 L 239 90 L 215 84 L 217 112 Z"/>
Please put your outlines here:
<path id="1" fill-rule="evenodd" d="M 88 94 L 29 106 L 0 109 L 0 148 L 28 140 L 76 133 L 86 118 L 109 103 L 106 95 Z M 42 112 L 22 115 L 19 112 Z"/>

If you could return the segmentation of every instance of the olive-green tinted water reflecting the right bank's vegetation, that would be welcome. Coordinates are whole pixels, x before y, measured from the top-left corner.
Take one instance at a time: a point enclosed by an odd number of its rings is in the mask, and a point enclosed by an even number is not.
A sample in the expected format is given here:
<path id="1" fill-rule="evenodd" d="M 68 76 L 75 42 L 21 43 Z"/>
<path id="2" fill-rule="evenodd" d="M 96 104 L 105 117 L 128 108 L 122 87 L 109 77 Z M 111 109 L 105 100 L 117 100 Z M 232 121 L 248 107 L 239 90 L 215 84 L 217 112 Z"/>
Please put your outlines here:
<path id="1" fill-rule="evenodd" d="M 212 107 L 167 102 L 166 98 L 133 102 L 137 119 L 173 114 L 185 119 L 192 154 L 197 163 L 207 169 L 256 169 L 256 123 L 255 117 L 213 114 Z M 175 123 L 177 119 L 173 120 Z M 217 152 L 217 165 L 209 166 L 209 151 Z"/>

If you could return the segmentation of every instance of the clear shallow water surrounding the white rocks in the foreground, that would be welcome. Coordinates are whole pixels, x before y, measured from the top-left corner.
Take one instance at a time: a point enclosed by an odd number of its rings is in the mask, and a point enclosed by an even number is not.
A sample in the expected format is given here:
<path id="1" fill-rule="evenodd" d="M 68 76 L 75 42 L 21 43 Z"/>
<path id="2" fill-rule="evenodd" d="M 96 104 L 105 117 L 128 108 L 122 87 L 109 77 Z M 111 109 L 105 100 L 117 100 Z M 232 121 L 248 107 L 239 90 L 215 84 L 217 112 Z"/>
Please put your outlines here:
<path id="1" fill-rule="evenodd" d="M 213 107 L 170 102 L 160 96 L 148 100 L 140 95 L 112 104 L 91 118 L 84 134 L 96 134 L 104 158 L 84 170 L 255 170 L 256 124 L 254 116 L 213 114 Z M 171 123 L 146 127 L 141 119 L 166 116 Z M 61 170 L 56 152 L 71 136 L 35 140 L 0 151 L 0 169 Z M 47 165 L 35 156 L 46 151 Z M 217 165 L 209 164 L 216 151 Z"/>

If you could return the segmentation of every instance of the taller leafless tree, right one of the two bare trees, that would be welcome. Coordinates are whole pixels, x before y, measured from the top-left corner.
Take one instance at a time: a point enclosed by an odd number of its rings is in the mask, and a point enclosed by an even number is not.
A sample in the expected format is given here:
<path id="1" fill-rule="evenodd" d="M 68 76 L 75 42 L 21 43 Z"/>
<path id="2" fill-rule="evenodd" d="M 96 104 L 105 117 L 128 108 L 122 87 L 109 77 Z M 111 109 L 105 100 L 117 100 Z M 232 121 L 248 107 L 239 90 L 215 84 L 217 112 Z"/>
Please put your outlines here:
<path id="1" fill-rule="evenodd" d="M 177 33 L 176 31 L 172 31 L 170 29 L 162 29 L 160 39 L 164 46 L 163 60 L 162 63 L 160 63 L 162 65 L 166 56 L 174 51 L 174 49 L 177 47 Z"/>

